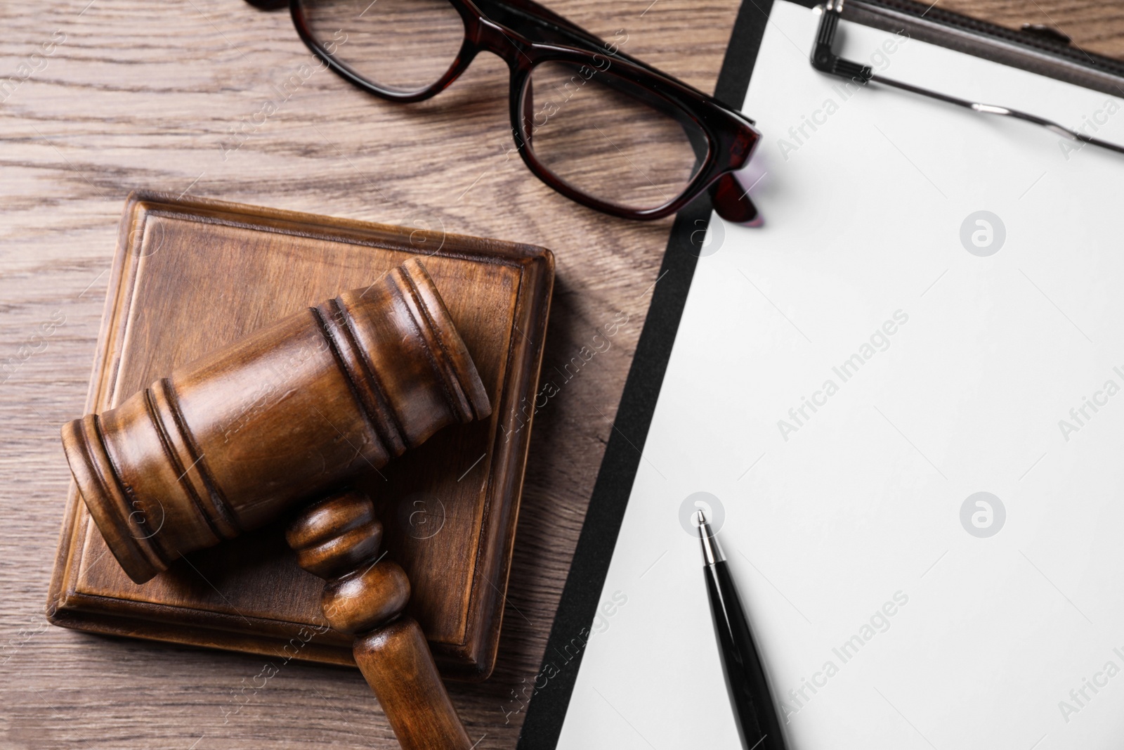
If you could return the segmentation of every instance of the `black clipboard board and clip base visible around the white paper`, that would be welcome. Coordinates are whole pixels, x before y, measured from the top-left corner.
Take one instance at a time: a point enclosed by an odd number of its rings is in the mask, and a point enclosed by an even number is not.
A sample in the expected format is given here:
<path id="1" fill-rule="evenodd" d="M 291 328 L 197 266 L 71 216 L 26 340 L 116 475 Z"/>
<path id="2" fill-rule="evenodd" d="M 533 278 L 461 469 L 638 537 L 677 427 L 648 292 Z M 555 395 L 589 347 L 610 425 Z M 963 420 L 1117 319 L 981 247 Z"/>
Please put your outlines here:
<path id="1" fill-rule="evenodd" d="M 792 1 L 807 8 L 821 4 Z M 735 109 L 749 90 L 772 6 L 773 0 L 743 0 L 738 8 L 715 85 L 715 97 Z M 912 0 L 845 0 L 842 18 L 887 31 L 905 30 L 910 38 L 1124 97 L 1124 61 L 1087 53 L 1050 34 L 1013 30 Z M 809 39 L 809 52 L 810 46 Z M 563 650 L 583 629 L 589 632 L 596 616 L 711 213 L 704 193 L 672 225 L 540 674 L 560 659 L 565 667 L 552 670 L 542 687 L 536 680 L 518 750 L 558 747 L 584 652 L 571 648 L 563 656 Z"/>

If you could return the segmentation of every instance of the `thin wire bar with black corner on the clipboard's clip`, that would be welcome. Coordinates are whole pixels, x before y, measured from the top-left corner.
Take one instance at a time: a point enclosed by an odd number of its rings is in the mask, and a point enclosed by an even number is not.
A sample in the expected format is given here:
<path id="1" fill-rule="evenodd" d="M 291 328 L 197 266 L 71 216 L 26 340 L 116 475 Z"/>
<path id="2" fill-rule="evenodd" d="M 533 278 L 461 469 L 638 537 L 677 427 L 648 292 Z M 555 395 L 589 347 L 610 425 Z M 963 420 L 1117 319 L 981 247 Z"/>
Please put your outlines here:
<path id="1" fill-rule="evenodd" d="M 859 63 L 843 60 L 836 55 L 834 51 L 832 51 L 832 45 L 835 42 L 835 31 L 839 27 L 839 21 L 843 12 L 843 0 L 828 0 L 827 4 L 822 6 L 821 8 L 823 13 L 819 18 L 819 28 L 816 29 L 816 42 L 812 48 L 812 66 L 822 73 L 837 75 L 839 78 L 844 78 L 859 84 L 865 84 L 868 82 L 881 83 L 883 85 L 894 87 L 895 89 L 916 93 L 922 97 L 928 97 L 930 99 L 937 99 L 939 101 L 955 105 L 957 107 L 971 109 L 972 111 L 984 115 L 1013 117 L 1015 119 L 1044 127 L 1063 138 L 1088 143 L 1094 146 L 1099 146 L 1100 148 L 1107 148 L 1108 151 L 1115 151 L 1116 153 L 1124 154 L 1124 146 L 1108 143 L 1107 141 L 1100 141 L 1099 138 L 1089 137 L 1084 133 L 1071 130 L 1070 128 L 1063 127 L 1053 120 L 1048 120 L 1044 117 L 1031 115 L 1030 112 L 1024 112 L 1017 109 L 1010 109 L 1008 107 L 998 107 L 996 105 L 985 105 L 978 101 L 969 101 L 968 99 L 960 99 L 959 97 L 952 97 L 931 89 L 923 89 L 909 83 L 903 83 L 901 81 L 888 79 L 885 75 L 874 74 L 870 65 L 860 65 Z"/>

